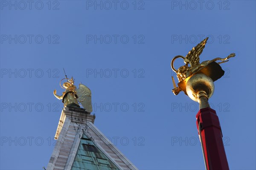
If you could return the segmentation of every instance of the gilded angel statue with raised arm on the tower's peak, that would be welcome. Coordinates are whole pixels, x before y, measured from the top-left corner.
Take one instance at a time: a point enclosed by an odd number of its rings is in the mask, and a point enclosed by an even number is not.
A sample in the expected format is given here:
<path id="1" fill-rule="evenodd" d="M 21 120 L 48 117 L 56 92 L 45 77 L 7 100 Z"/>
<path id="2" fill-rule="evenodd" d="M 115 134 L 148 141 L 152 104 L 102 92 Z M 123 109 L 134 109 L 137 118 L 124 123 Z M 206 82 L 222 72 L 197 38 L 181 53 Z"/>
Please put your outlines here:
<path id="1" fill-rule="evenodd" d="M 61 86 L 62 80 L 66 79 L 67 82 L 64 82 Z M 79 88 L 77 89 L 74 85 L 74 79 L 73 77 L 71 79 L 68 79 L 67 77 L 61 80 L 60 86 L 61 88 L 64 88 L 65 91 L 62 93 L 61 96 L 58 96 L 56 94 L 56 89 L 53 91 L 54 96 L 57 99 L 62 99 L 62 102 L 64 103 L 64 107 L 77 107 L 80 108 L 79 103 L 83 106 L 83 108 L 91 113 L 93 111 L 92 109 L 92 102 L 91 102 L 91 91 L 89 88 L 87 88 L 86 85 L 79 84 Z"/>

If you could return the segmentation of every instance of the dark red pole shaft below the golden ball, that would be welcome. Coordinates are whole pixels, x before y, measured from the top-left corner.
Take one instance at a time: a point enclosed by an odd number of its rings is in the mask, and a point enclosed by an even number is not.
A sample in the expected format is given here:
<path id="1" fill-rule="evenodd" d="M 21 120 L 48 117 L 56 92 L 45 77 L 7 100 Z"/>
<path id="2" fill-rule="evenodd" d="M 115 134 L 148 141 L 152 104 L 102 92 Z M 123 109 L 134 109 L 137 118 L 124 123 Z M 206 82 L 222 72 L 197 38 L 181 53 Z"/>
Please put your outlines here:
<path id="1" fill-rule="evenodd" d="M 198 134 L 201 136 L 206 169 L 229 170 L 216 111 L 211 108 L 200 109 L 196 115 L 196 123 Z"/>

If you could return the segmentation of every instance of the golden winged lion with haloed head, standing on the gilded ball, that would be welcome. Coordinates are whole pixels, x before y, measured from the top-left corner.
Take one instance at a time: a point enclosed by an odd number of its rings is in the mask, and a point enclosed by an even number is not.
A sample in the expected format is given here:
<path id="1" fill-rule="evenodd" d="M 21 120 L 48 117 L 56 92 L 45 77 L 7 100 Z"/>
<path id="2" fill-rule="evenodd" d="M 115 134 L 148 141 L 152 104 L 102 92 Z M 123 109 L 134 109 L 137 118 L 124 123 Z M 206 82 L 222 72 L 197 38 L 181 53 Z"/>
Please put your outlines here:
<path id="1" fill-rule="evenodd" d="M 172 90 L 175 95 L 179 94 L 180 91 L 184 91 L 186 94 L 185 86 L 186 82 L 188 81 L 189 77 L 194 74 L 203 73 L 213 79 L 213 81 L 219 79 L 223 76 L 224 71 L 221 69 L 220 65 L 223 62 L 227 62 L 230 57 L 235 57 L 235 53 L 231 53 L 226 58 L 215 58 L 212 60 L 207 60 L 203 62 L 199 62 L 199 56 L 203 52 L 205 44 L 208 40 L 208 37 L 200 42 L 198 45 L 192 48 L 186 57 L 181 55 L 175 56 L 172 59 L 171 67 L 172 70 L 177 74 L 177 78 L 179 80 L 178 86 L 176 87 L 175 81 L 172 77 L 174 89 Z M 177 70 L 173 66 L 173 62 L 177 58 L 182 58 L 185 62 L 185 65 L 181 66 Z M 221 62 L 216 63 L 215 61 L 221 60 Z M 190 66 L 189 66 L 190 65 Z"/>

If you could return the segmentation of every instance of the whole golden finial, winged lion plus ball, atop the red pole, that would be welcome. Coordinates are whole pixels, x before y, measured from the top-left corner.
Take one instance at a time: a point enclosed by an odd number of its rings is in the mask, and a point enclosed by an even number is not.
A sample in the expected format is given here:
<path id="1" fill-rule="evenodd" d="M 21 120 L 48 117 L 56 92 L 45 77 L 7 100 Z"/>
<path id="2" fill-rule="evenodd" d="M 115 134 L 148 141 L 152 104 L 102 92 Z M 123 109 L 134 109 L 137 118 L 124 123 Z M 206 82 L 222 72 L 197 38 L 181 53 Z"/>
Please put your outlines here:
<path id="1" fill-rule="evenodd" d="M 183 91 L 192 100 L 199 102 L 199 104 L 202 103 L 198 100 L 201 98 L 199 96 L 206 96 L 208 101 L 214 91 L 213 82 L 224 75 L 224 71 L 219 64 L 227 62 L 227 59 L 230 57 L 235 57 L 236 55 L 231 53 L 226 58 L 218 57 L 200 63 L 199 56 L 203 52 L 207 40 L 208 37 L 193 47 L 192 50 L 189 51 L 189 53 L 186 55 L 186 57 L 178 55 L 175 56 L 171 62 L 172 70 L 177 74 L 177 78 L 179 80 L 178 87 L 176 87 L 175 81 L 172 77 L 172 82 L 174 85 L 172 92 L 177 95 L 180 93 L 180 91 Z M 182 58 L 185 62 L 185 65 L 176 70 L 173 64 L 177 58 Z M 215 62 L 218 60 L 221 62 Z"/>

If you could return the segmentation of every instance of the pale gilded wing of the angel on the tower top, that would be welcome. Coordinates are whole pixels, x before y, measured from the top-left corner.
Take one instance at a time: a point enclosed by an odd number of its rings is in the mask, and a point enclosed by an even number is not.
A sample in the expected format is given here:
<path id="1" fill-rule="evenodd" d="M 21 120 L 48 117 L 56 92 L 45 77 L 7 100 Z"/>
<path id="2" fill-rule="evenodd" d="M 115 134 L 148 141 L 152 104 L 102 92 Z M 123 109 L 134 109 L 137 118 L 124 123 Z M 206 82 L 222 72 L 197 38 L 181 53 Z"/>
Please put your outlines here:
<path id="1" fill-rule="evenodd" d="M 77 100 L 82 104 L 87 112 L 91 113 L 93 111 L 93 107 L 90 88 L 87 88 L 86 85 L 79 84 L 79 88 L 76 89 L 76 94 L 78 96 Z"/>

